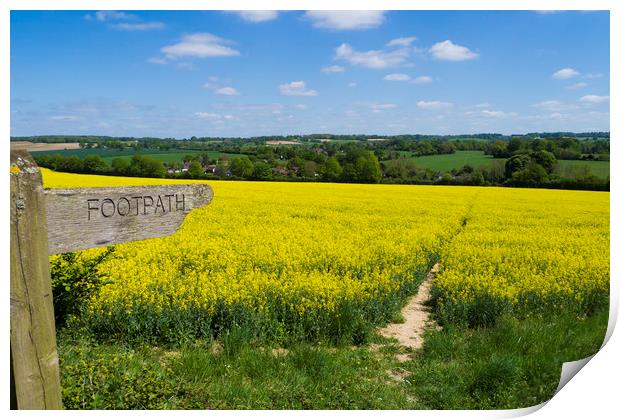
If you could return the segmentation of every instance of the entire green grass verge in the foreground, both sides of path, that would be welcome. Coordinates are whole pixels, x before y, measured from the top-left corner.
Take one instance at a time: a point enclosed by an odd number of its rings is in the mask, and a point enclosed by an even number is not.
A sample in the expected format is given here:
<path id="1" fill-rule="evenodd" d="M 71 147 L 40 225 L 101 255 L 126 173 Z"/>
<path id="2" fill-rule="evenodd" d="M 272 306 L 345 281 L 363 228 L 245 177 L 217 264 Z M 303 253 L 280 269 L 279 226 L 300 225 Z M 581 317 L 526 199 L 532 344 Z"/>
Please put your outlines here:
<path id="1" fill-rule="evenodd" d="M 607 313 L 428 332 L 400 363 L 393 341 L 274 349 L 233 329 L 171 348 L 60 335 L 63 401 L 71 409 L 487 409 L 539 404 L 565 361 L 600 347 Z"/>

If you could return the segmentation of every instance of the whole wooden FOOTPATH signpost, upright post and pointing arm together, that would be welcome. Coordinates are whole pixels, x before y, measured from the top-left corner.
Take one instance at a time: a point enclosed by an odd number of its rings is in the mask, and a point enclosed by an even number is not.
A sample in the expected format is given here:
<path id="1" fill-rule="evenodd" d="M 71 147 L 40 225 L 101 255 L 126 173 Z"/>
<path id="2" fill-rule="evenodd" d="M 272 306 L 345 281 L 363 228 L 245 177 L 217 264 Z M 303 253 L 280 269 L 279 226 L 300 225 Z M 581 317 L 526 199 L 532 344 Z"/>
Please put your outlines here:
<path id="1" fill-rule="evenodd" d="M 43 190 L 11 151 L 11 408 L 62 408 L 49 255 L 167 236 L 213 198 L 206 184 Z"/>

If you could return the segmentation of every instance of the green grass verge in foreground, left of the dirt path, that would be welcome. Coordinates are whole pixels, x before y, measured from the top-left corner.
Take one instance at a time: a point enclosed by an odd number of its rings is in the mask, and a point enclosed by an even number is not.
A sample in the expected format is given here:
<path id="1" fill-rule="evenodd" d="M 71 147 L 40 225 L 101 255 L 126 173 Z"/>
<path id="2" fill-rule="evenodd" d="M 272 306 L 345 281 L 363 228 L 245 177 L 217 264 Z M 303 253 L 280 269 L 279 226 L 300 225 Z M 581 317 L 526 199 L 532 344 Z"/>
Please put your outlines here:
<path id="1" fill-rule="evenodd" d="M 163 349 L 62 340 L 68 409 L 380 409 L 409 404 L 393 359 L 368 348 L 273 350 L 231 331 Z"/>

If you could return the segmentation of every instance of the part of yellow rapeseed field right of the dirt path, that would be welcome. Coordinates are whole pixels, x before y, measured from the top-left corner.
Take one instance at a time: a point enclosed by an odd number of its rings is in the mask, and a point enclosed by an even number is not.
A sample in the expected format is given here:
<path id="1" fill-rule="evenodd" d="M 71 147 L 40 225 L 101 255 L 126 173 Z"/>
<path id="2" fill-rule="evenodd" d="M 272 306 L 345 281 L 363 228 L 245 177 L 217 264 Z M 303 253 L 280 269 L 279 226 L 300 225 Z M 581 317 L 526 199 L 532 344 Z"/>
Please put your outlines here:
<path id="1" fill-rule="evenodd" d="M 483 189 L 442 268 L 435 294 L 452 317 L 488 309 L 476 301 L 587 313 L 609 295 L 609 193 Z"/>

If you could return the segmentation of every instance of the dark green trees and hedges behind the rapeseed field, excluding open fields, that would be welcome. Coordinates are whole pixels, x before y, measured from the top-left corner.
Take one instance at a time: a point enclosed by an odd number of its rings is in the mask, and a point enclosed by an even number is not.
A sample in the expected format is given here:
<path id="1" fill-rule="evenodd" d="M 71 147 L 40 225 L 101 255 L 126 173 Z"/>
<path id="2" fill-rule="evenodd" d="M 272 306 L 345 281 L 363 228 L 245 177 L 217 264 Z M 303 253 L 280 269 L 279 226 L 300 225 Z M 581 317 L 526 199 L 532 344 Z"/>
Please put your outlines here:
<path id="1" fill-rule="evenodd" d="M 479 168 L 463 165 L 442 172 L 420 168 L 409 158 L 480 149 L 497 160 Z M 230 155 L 216 159 L 213 153 L 209 156 L 209 152 L 195 151 L 183 159 L 183 164 L 168 165 L 139 153 L 130 159 L 115 158 L 111 165 L 96 154 L 83 158 L 48 154 L 36 159 L 41 166 L 57 171 L 138 177 L 609 189 L 609 178 L 592 175 L 588 167 L 559 170 L 560 159 L 609 160 L 609 141 L 590 138 L 513 137 L 483 143 L 391 139 L 308 146 L 252 145 L 220 148 L 218 153 L 222 150 Z"/>

